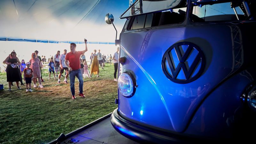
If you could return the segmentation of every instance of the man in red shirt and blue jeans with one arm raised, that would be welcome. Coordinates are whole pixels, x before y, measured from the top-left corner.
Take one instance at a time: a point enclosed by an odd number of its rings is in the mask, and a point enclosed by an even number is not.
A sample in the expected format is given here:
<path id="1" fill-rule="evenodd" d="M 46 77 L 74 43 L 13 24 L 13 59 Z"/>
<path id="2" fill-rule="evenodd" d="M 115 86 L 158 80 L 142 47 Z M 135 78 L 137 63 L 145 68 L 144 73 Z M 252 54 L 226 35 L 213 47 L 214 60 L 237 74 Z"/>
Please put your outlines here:
<path id="1" fill-rule="evenodd" d="M 80 64 L 80 56 L 81 54 L 84 54 L 84 52 L 87 51 L 87 40 L 84 39 L 85 43 L 85 50 L 84 51 L 76 51 L 76 44 L 71 43 L 70 44 L 70 52 L 66 54 L 65 57 L 65 64 L 68 66 L 69 69 L 69 78 L 70 78 L 70 90 L 72 94 L 72 99 L 76 99 L 75 97 L 75 76 L 79 80 L 79 96 L 85 97 L 83 94 L 83 76 L 80 70 L 81 64 Z M 68 64 L 69 63 L 69 64 Z"/>

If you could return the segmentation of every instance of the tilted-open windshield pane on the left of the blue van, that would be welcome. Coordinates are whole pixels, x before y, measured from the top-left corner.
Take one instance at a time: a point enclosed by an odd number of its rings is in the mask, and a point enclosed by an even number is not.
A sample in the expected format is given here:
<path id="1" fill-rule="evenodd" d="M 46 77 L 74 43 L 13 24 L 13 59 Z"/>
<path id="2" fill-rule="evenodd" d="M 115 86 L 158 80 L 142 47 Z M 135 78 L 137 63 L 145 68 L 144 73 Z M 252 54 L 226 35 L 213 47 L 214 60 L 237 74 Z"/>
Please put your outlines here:
<path id="1" fill-rule="evenodd" d="M 132 17 L 135 15 L 168 10 L 179 5 L 180 1 L 181 0 L 163 0 L 163 1 L 137 0 L 120 16 L 120 19 Z"/>

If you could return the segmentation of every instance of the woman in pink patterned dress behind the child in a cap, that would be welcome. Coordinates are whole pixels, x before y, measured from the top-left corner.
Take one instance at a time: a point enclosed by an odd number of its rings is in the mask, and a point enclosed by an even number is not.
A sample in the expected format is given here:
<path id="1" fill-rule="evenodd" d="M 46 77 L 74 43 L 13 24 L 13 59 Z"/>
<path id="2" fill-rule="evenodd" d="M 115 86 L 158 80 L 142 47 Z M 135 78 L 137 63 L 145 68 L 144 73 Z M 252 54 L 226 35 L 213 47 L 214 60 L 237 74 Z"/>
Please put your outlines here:
<path id="1" fill-rule="evenodd" d="M 39 82 L 38 87 L 43 88 L 43 85 L 41 83 L 41 78 L 40 78 L 41 77 L 40 67 L 42 68 L 41 61 L 38 58 L 36 58 L 36 53 L 32 53 L 31 57 L 32 58 L 29 60 L 29 62 L 31 63 L 30 68 L 33 69 L 34 87 L 36 87 L 36 78 L 38 78 L 38 82 Z"/>

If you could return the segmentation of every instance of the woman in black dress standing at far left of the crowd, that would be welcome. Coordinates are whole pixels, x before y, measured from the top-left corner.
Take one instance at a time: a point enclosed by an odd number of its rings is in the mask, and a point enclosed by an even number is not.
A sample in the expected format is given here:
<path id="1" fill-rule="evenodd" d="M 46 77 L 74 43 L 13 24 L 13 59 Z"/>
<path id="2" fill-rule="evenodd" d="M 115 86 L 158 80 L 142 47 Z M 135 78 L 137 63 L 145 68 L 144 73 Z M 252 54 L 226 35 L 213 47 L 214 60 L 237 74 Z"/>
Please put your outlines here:
<path id="1" fill-rule="evenodd" d="M 11 84 L 12 82 L 16 82 L 17 89 L 21 89 L 19 87 L 20 81 L 20 69 L 19 65 L 21 64 L 20 60 L 16 57 L 16 52 L 12 52 L 4 61 L 4 64 L 7 64 L 6 67 L 6 76 L 7 82 L 9 84 L 9 91 L 12 91 Z"/>

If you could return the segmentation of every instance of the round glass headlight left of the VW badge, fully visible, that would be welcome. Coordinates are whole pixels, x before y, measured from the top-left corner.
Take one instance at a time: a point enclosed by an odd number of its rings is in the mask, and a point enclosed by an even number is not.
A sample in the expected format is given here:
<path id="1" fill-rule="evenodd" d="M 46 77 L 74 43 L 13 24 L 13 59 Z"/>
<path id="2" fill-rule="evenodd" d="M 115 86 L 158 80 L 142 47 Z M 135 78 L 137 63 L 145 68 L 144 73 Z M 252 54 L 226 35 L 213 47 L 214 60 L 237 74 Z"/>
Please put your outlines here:
<path id="1" fill-rule="evenodd" d="M 135 79 L 130 72 L 124 72 L 118 77 L 118 90 L 125 96 L 129 97 L 135 93 Z"/>

